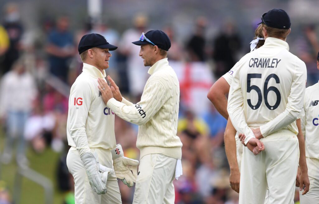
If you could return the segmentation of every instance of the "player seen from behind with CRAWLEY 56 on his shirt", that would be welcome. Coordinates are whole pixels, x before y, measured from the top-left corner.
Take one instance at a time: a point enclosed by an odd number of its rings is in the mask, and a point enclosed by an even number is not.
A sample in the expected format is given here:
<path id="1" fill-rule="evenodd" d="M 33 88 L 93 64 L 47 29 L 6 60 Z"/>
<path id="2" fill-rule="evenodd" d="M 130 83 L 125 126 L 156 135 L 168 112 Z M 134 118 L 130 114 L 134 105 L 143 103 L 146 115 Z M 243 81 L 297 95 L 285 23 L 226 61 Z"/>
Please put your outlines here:
<path id="1" fill-rule="evenodd" d="M 291 22 L 286 11 L 272 9 L 261 17 L 264 45 L 235 65 L 227 111 L 244 143 L 263 142 L 254 155 L 243 149 L 239 203 L 292 203 L 298 167 L 298 128 L 306 83 L 306 65 L 289 52 Z M 278 20 L 280 19 L 280 21 Z"/>

